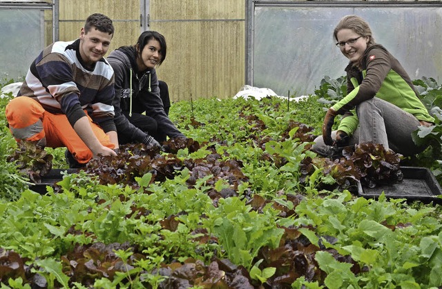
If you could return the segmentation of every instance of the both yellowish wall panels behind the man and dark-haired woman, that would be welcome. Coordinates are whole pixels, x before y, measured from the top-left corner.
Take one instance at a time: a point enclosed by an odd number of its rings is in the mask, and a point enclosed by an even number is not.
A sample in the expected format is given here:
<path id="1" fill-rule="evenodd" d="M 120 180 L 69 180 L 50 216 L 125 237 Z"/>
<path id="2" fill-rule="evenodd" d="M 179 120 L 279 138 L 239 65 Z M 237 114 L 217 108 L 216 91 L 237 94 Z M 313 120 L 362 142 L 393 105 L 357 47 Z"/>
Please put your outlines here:
<path id="1" fill-rule="evenodd" d="M 233 97 L 244 85 L 245 0 L 151 0 L 150 30 L 164 34 L 167 56 L 157 71 L 173 101 Z M 111 50 L 135 44 L 140 0 L 60 0 L 59 39 L 79 36 L 88 15 L 113 19 Z"/>

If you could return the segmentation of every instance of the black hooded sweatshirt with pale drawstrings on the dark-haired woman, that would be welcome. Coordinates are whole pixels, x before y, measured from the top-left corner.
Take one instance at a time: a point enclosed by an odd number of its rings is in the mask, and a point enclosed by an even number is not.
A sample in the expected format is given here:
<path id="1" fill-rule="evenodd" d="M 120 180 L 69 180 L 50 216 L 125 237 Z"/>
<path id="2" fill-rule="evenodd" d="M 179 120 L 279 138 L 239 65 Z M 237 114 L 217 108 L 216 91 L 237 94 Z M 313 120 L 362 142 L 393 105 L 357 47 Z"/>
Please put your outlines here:
<path id="1" fill-rule="evenodd" d="M 113 106 L 117 133 L 142 142 L 147 136 L 146 132 L 130 123 L 122 112 L 146 112 L 146 115 L 157 121 L 158 130 L 168 137 L 184 137 L 164 112 L 155 69 L 142 72 L 137 70 L 135 47 L 120 47 L 111 52 L 107 60 L 115 72 Z"/>

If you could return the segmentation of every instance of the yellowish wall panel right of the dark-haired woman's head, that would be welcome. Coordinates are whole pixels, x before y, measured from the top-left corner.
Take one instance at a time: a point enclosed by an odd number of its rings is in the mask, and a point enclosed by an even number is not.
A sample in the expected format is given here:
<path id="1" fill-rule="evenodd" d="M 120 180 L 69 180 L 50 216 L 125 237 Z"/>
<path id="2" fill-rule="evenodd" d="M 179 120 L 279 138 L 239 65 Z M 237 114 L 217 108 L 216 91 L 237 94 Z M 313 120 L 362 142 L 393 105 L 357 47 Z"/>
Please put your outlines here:
<path id="1" fill-rule="evenodd" d="M 168 44 L 158 74 L 175 99 L 233 97 L 240 90 L 244 14 L 244 1 L 238 0 L 151 0 L 151 30 L 164 34 Z"/>

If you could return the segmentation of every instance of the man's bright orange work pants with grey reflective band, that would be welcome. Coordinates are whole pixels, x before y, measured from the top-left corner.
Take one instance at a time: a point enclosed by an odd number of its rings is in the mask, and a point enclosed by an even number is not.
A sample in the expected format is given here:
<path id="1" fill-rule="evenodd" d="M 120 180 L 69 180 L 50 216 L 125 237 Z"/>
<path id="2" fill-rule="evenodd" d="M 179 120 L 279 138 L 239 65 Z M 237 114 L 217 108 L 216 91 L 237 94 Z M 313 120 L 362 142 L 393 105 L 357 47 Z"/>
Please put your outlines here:
<path id="1" fill-rule="evenodd" d="M 85 111 L 86 112 L 86 111 Z M 90 119 L 95 137 L 107 148 L 115 148 L 108 135 Z M 52 114 L 30 97 L 16 97 L 6 106 L 6 119 L 17 141 L 39 141 L 46 137 L 49 148 L 66 147 L 79 163 L 87 163 L 93 153 L 70 125 L 66 114 Z"/>

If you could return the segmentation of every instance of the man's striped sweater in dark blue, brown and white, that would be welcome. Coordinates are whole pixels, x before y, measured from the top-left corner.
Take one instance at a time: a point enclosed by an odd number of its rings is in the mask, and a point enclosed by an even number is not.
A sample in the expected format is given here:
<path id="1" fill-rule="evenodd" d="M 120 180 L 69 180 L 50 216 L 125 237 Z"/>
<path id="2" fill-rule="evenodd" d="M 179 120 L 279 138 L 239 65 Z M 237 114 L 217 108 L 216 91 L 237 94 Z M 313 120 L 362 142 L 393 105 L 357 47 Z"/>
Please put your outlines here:
<path id="1" fill-rule="evenodd" d="M 66 114 L 72 126 L 86 110 L 104 132 L 109 132 L 116 131 L 113 85 L 113 69 L 106 59 L 87 69 L 81 61 L 79 39 L 57 41 L 32 62 L 18 96 L 32 97 L 48 112 Z"/>

